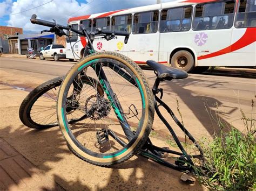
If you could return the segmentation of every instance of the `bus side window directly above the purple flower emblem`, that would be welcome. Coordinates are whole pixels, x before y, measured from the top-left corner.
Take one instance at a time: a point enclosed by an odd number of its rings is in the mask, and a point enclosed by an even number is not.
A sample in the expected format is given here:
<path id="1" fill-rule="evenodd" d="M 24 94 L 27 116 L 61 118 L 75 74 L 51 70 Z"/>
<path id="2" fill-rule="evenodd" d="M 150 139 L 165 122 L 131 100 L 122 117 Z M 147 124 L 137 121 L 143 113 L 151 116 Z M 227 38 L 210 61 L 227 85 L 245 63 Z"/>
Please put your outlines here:
<path id="1" fill-rule="evenodd" d="M 194 31 L 230 29 L 233 25 L 234 5 L 233 0 L 197 5 L 192 29 Z"/>

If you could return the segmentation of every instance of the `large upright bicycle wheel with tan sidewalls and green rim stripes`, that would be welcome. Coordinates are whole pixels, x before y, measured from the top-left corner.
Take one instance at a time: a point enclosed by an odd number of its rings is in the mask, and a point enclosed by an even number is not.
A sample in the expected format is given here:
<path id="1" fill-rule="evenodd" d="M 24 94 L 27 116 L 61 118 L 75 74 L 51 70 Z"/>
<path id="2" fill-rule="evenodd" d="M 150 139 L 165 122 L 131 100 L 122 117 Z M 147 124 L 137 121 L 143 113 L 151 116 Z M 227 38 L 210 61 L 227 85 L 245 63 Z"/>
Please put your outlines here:
<path id="1" fill-rule="evenodd" d="M 84 75 L 97 79 L 99 84 L 93 87 L 101 86 L 104 96 L 80 86 Z M 83 121 L 68 123 L 70 102 L 78 105 L 77 115 L 86 114 Z M 153 123 L 153 95 L 142 69 L 131 59 L 113 52 L 95 53 L 66 75 L 57 116 L 71 152 L 92 164 L 109 166 L 129 159 L 146 142 Z"/>

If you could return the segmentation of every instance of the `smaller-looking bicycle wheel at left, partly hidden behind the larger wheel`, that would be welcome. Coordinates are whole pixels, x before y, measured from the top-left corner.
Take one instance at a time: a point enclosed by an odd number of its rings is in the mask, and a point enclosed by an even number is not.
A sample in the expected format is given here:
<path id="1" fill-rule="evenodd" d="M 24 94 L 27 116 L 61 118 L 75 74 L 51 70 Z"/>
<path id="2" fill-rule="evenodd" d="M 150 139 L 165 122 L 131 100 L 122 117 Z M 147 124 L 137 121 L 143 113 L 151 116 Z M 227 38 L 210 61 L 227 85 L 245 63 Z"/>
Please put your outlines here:
<path id="1" fill-rule="evenodd" d="M 46 129 L 58 126 L 56 102 L 59 87 L 63 79 L 64 76 L 46 81 L 33 89 L 25 97 L 19 107 L 19 118 L 24 125 L 32 129 Z M 82 81 L 87 88 L 90 88 L 91 82 L 95 81 L 95 79 L 84 77 Z M 100 86 L 98 86 L 97 91 L 100 95 L 104 94 Z M 69 110 L 68 115 L 72 116 L 73 110 L 71 108 Z M 69 123 L 75 123 L 80 119 L 80 117 L 72 116 Z"/>

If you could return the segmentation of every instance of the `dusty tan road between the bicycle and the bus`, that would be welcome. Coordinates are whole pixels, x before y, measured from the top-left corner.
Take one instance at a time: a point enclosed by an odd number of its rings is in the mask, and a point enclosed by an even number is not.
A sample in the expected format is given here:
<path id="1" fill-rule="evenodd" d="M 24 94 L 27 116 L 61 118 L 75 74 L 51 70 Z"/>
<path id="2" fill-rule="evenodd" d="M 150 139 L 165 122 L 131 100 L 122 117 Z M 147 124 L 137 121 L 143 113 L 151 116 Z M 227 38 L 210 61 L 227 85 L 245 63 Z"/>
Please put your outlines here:
<path id="1" fill-rule="evenodd" d="M 9 72 L 19 71 L 17 73 L 20 74 L 27 72 L 32 78 L 40 76 L 39 78 L 45 81 L 53 76 L 65 75 L 73 64 L 75 62 L 1 58 L 0 69 Z M 155 79 L 153 71 L 144 69 L 144 73 L 152 86 Z M 21 79 L 15 83 L 19 86 L 24 85 Z M 30 83 L 31 86 L 37 84 L 35 80 L 25 83 Z M 196 137 L 213 135 L 214 129 L 218 128 L 213 122 L 216 119 L 215 111 L 219 112 L 219 119 L 228 126 L 234 125 L 235 128 L 242 130 L 243 126 L 239 121 L 240 108 L 245 114 L 250 115 L 251 102 L 256 95 L 256 80 L 241 77 L 190 74 L 185 80 L 166 81 L 162 85 L 165 90 L 164 101 L 171 104 L 176 111 L 177 98 L 184 123 L 188 129 L 194 131 Z M 157 118 L 155 121 L 154 129 L 165 134 L 163 125 L 159 124 Z"/>

